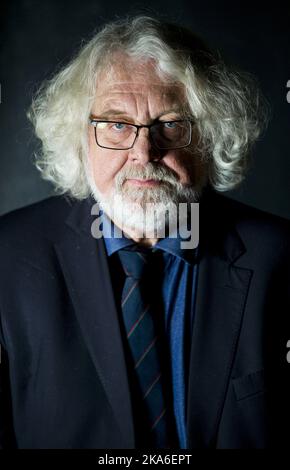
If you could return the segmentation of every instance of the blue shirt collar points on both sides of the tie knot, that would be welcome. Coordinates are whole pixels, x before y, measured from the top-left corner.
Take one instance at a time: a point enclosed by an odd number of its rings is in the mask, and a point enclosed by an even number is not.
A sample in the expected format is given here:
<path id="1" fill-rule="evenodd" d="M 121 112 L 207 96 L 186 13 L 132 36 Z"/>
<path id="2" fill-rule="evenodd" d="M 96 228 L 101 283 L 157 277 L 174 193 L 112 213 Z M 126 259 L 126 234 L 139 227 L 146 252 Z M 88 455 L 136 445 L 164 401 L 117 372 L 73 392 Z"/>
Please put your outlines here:
<path id="1" fill-rule="evenodd" d="M 102 233 L 104 242 L 109 256 L 123 248 L 136 245 L 136 242 L 132 240 L 132 238 L 127 237 L 103 211 L 100 211 L 100 217 L 103 226 Z M 186 241 L 186 239 L 181 238 L 179 234 L 174 238 L 161 238 L 154 245 L 152 250 L 160 249 L 165 253 L 169 253 L 170 255 L 184 260 L 186 263 L 195 264 L 197 249 L 182 248 L 182 241 Z"/>

